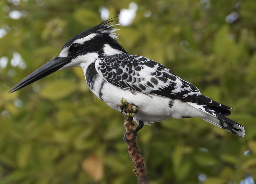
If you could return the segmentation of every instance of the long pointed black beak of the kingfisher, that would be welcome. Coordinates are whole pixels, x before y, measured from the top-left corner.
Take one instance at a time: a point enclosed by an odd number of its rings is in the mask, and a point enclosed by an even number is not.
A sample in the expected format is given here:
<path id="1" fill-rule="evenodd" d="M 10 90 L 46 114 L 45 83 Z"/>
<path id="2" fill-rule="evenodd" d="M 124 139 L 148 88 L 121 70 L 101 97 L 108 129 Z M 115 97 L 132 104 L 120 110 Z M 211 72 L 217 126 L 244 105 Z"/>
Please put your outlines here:
<path id="1" fill-rule="evenodd" d="M 56 72 L 60 68 L 62 68 L 64 65 L 71 62 L 72 58 L 68 57 L 54 57 L 52 60 L 41 66 L 36 71 L 32 72 L 29 76 L 27 76 L 25 79 L 20 81 L 16 86 L 14 86 L 9 92 L 15 92 L 47 75 L 50 75 L 53 72 Z"/>

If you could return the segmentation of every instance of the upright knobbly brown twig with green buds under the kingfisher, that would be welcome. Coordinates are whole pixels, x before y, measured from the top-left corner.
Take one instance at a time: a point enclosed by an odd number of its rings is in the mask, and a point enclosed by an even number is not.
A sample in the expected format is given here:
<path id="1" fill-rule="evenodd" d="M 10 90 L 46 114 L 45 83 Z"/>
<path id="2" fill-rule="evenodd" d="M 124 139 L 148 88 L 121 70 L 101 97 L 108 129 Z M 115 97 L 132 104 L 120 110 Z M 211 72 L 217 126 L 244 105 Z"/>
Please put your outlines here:
<path id="1" fill-rule="evenodd" d="M 136 109 L 136 106 L 127 103 L 125 99 L 122 100 L 119 106 L 122 106 L 123 104 L 123 111 L 126 113 L 127 117 L 124 122 L 124 126 L 126 129 L 125 138 L 129 141 L 126 142 L 126 144 L 128 145 L 128 153 L 130 154 L 130 157 L 133 160 L 133 166 L 136 168 L 133 170 L 133 173 L 137 176 L 139 184 L 148 184 L 148 177 L 145 169 L 145 164 L 140 154 L 139 148 L 136 145 L 136 137 L 134 136 L 136 125 L 133 122 L 133 117 L 138 112 L 138 109 Z"/>

